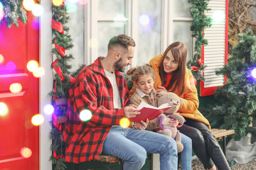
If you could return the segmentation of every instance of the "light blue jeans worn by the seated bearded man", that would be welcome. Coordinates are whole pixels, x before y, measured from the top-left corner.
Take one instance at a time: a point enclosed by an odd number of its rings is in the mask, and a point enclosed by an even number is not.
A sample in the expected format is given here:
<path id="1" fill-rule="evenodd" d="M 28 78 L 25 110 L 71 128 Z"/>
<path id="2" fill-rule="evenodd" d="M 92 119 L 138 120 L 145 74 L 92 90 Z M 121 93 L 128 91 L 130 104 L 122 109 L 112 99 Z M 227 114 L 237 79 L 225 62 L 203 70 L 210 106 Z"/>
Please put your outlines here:
<path id="1" fill-rule="evenodd" d="M 111 128 L 102 147 L 102 153 L 124 161 L 124 170 L 141 169 L 146 161 L 146 152 L 160 154 L 161 170 L 178 168 L 176 142 L 156 132 L 116 126 Z"/>

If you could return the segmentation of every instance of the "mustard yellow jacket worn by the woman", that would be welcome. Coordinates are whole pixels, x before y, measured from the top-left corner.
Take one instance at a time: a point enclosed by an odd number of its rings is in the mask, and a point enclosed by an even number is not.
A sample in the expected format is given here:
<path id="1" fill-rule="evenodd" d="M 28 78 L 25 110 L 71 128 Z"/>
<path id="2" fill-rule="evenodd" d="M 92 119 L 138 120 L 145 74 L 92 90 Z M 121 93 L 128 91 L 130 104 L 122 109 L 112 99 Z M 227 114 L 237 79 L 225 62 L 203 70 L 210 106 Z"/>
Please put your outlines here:
<path id="1" fill-rule="evenodd" d="M 162 60 L 162 55 L 158 55 L 149 61 L 149 64 L 151 64 L 156 74 L 154 89 L 159 89 L 158 86 L 162 86 L 161 78 L 159 75 L 159 67 L 161 64 L 161 60 Z M 183 115 L 183 117 L 185 118 L 191 118 L 193 120 L 198 120 L 201 123 L 205 123 L 210 129 L 210 123 L 202 115 L 202 113 L 198 111 L 198 106 L 199 106 L 198 93 L 196 90 L 196 86 L 194 84 L 193 75 L 188 68 L 186 68 L 185 82 L 186 82 L 185 90 L 183 91 L 183 94 L 179 96 L 183 98 L 183 104 L 181 104 L 177 113 L 181 113 L 181 115 Z M 135 89 L 134 87 L 131 89 L 130 95 L 134 93 L 134 89 Z M 174 92 L 175 94 L 177 94 L 177 91 L 171 91 L 171 92 Z"/>

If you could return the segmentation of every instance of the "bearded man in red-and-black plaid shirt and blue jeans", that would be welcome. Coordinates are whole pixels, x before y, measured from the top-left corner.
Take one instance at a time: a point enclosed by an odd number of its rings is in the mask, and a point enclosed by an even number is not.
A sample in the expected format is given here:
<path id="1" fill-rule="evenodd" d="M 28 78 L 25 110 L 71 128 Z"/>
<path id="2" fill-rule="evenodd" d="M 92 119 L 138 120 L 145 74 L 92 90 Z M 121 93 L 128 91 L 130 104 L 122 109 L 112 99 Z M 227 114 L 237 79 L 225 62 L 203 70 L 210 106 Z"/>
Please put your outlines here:
<path id="1" fill-rule="evenodd" d="M 139 114 L 137 106 L 129 105 L 127 83 L 120 73 L 132 64 L 134 47 L 129 36 L 115 36 L 107 56 L 98 57 L 76 77 L 63 131 L 66 162 L 87 162 L 104 153 L 122 159 L 124 170 L 137 170 L 149 152 L 160 154 L 161 169 L 177 169 L 176 142 L 171 137 L 144 130 L 148 120 L 135 125 L 140 130 L 119 125 L 122 118 Z M 85 109 L 92 118 L 82 121 L 79 114 Z"/>

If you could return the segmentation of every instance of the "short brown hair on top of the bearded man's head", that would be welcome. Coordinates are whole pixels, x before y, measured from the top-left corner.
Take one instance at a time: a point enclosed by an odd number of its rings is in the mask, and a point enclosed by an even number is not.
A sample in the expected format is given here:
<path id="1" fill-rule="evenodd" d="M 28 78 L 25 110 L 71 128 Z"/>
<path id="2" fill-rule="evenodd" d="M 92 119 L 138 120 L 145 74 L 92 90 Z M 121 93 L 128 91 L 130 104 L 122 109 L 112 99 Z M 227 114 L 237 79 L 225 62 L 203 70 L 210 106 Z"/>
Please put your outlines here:
<path id="1" fill-rule="evenodd" d="M 130 38 L 128 35 L 121 34 L 114 36 L 110 39 L 110 42 L 107 45 L 107 48 L 110 49 L 111 46 L 114 45 L 121 45 L 126 50 L 128 49 L 128 45 L 131 45 L 132 47 L 135 47 L 135 42 L 132 38 Z"/>

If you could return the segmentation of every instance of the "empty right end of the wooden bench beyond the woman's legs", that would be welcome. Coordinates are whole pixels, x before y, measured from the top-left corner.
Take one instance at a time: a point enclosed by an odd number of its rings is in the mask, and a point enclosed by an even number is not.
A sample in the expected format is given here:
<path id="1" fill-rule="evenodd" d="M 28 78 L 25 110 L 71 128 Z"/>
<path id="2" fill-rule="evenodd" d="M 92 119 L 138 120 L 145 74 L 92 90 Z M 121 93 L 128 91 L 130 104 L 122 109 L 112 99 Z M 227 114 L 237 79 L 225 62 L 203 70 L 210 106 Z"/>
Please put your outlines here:
<path id="1" fill-rule="evenodd" d="M 217 140 L 223 139 L 223 153 L 226 156 L 226 137 L 235 133 L 235 130 L 212 129 L 210 130 Z"/>

